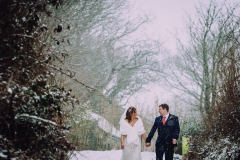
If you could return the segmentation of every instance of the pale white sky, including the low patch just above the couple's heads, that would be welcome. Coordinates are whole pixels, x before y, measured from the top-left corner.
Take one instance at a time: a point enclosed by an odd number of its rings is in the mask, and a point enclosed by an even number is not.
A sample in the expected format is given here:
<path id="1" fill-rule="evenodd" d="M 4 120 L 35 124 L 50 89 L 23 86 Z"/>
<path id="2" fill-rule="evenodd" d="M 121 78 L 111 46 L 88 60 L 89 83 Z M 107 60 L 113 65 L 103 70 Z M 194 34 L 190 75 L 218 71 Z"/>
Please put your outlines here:
<path id="1" fill-rule="evenodd" d="M 178 31 L 182 40 L 187 40 L 184 36 L 184 17 L 186 14 L 194 16 L 196 14 L 195 6 L 199 5 L 199 0 L 129 0 L 132 4 L 134 14 L 146 13 L 151 22 L 140 30 L 137 36 L 147 36 L 160 38 L 165 47 L 176 54 L 176 43 L 173 34 Z M 200 0 L 203 4 L 208 4 L 210 0 Z M 223 2 L 216 0 L 216 2 Z M 240 3 L 239 0 L 226 0 L 226 3 Z M 139 35 L 140 34 L 140 35 Z M 151 92 L 137 94 L 130 99 L 129 105 L 154 106 L 155 97 L 159 97 L 159 103 L 171 102 L 172 94 L 164 91 L 160 86 L 150 85 Z"/>

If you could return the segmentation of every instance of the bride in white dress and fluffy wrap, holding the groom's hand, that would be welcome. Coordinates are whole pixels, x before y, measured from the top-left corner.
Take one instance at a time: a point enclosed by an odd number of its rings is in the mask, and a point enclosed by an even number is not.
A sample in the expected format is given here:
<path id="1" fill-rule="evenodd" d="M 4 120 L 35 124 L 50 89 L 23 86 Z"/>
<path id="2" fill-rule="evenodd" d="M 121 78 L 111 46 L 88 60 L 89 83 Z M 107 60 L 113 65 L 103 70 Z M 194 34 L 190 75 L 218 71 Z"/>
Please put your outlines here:
<path id="1" fill-rule="evenodd" d="M 146 140 L 145 130 L 142 120 L 137 116 L 135 107 L 129 107 L 120 119 L 121 134 L 121 160 L 142 160 L 141 158 L 141 139 Z"/>

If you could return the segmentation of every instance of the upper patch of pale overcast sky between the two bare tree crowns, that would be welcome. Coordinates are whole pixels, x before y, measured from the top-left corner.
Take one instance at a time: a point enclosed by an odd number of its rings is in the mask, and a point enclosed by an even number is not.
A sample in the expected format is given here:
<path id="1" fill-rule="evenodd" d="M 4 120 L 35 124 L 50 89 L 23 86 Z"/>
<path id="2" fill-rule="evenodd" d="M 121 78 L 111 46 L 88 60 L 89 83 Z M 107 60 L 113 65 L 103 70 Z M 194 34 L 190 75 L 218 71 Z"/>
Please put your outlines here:
<path id="1" fill-rule="evenodd" d="M 195 6 L 199 2 L 208 5 L 210 0 L 129 0 L 135 14 L 146 13 L 151 22 L 144 27 L 143 35 L 160 38 L 168 49 L 176 52 L 173 34 L 178 31 L 184 34 L 184 17 L 186 14 L 194 16 Z M 221 3 L 222 0 L 216 0 Z M 239 0 L 226 0 L 227 4 L 240 3 Z M 185 38 L 184 35 L 182 37 Z"/>

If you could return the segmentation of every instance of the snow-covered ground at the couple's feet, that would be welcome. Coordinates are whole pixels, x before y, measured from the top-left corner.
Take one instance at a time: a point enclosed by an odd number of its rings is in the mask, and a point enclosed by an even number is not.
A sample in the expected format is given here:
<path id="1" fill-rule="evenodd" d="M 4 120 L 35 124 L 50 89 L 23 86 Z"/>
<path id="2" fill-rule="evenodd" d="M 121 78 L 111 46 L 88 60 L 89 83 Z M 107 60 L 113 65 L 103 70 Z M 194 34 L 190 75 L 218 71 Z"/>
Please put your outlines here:
<path id="1" fill-rule="evenodd" d="M 142 152 L 142 160 L 155 160 L 155 152 Z M 71 160 L 120 160 L 122 150 L 111 151 L 75 151 Z M 182 159 L 180 155 L 174 155 L 174 159 Z"/>

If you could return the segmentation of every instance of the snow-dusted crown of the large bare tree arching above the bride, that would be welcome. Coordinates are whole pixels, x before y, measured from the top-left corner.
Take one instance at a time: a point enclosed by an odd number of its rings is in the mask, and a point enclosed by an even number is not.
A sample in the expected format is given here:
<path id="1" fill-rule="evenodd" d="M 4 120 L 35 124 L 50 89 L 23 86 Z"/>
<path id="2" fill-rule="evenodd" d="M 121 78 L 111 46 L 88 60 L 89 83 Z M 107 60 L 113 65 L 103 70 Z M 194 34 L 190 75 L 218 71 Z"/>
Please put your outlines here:
<path id="1" fill-rule="evenodd" d="M 69 13 L 61 13 L 70 16 L 69 23 L 76 26 L 69 31 L 72 34 L 70 46 L 64 48 L 68 57 L 61 68 L 74 72 L 75 79 L 95 92 L 61 77 L 64 85 L 75 88 L 79 99 L 90 100 L 94 102 L 93 106 L 103 99 L 103 95 L 109 97 L 110 103 L 114 99 L 126 103 L 146 84 L 160 78 L 158 56 L 162 45 L 159 41 L 132 40 L 132 34 L 147 23 L 148 18 L 144 16 L 136 20 L 127 15 L 126 3 L 125 0 L 83 1 L 73 5 L 74 9 Z"/>

